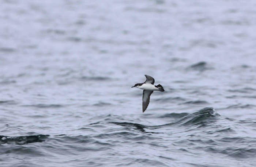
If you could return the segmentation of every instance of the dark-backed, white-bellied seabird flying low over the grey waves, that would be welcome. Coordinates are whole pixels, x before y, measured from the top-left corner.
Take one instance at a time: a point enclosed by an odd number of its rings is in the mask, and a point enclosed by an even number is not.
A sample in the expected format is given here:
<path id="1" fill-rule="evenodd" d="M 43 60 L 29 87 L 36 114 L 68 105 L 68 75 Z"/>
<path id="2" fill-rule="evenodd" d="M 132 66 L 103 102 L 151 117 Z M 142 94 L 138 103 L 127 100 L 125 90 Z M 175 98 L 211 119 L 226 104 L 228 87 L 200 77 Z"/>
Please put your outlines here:
<path id="1" fill-rule="evenodd" d="M 142 112 L 144 113 L 147 109 L 147 106 L 149 104 L 150 100 L 150 95 L 154 91 L 160 91 L 164 92 L 165 90 L 163 89 L 162 85 L 157 85 L 155 86 L 155 79 L 153 77 L 150 77 L 148 75 L 145 75 L 147 80 L 144 83 L 136 83 L 133 87 L 143 89 L 143 98 L 142 98 Z"/>

